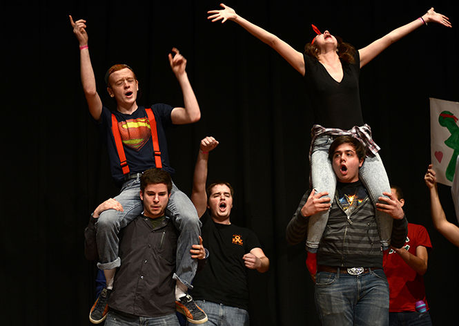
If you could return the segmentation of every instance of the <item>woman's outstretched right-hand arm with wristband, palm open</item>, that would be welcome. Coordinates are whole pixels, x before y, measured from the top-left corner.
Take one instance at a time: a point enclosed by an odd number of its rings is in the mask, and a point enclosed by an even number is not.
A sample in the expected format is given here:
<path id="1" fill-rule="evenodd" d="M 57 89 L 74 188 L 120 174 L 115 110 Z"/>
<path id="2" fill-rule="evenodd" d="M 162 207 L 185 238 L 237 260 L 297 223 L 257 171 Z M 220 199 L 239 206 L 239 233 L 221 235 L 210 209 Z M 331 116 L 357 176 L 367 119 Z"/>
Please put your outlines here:
<path id="1" fill-rule="evenodd" d="M 407 25 L 396 28 L 392 32 L 389 32 L 389 34 L 377 39 L 369 46 L 361 48 L 359 50 L 360 68 L 368 64 L 391 44 L 395 43 L 402 37 L 407 36 L 409 33 L 413 32 L 413 30 L 416 30 L 416 28 L 424 25 L 424 23 L 440 23 L 443 26 L 451 27 L 448 17 L 441 15 L 438 12 L 435 12 L 433 8 L 430 8 L 427 13 L 420 17 L 420 19 L 418 18 L 415 21 L 411 21 L 411 23 L 407 23 Z"/>

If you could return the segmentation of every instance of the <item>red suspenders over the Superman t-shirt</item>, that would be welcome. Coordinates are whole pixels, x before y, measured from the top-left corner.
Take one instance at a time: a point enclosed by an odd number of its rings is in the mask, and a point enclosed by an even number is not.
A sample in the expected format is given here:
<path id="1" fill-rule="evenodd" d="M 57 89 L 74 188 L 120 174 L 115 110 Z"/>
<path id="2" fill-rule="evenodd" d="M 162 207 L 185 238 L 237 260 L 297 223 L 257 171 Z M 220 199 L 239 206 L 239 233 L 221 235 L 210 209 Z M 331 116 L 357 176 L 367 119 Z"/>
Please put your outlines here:
<path id="1" fill-rule="evenodd" d="M 153 151 L 155 155 L 155 166 L 158 169 L 162 168 L 161 162 L 161 151 L 159 151 L 159 142 L 158 142 L 158 133 L 156 130 L 156 121 L 155 115 L 151 108 L 146 108 L 146 115 L 148 115 L 148 122 L 150 122 L 150 131 L 151 131 L 151 140 L 153 142 Z M 115 138 L 115 144 L 119 156 L 119 162 L 121 162 L 121 169 L 123 174 L 129 173 L 128 162 L 126 162 L 126 155 L 124 154 L 123 142 L 121 141 L 121 134 L 119 133 L 118 120 L 115 115 L 112 113 L 112 133 L 113 138 Z"/>

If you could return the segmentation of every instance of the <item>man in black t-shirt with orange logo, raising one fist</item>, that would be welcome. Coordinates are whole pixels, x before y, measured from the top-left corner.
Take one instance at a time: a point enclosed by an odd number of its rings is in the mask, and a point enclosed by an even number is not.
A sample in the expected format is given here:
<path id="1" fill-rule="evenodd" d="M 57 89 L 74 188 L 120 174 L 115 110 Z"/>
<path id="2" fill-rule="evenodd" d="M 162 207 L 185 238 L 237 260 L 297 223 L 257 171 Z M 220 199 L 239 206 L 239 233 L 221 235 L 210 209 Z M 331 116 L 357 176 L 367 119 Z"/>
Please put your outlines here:
<path id="1" fill-rule="evenodd" d="M 233 187 L 228 182 L 206 189 L 208 153 L 218 145 L 213 137 L 201 141 L 191 201 L 202 222 L 202 239 L 209 251 L 206 267 L 193 280 L 193 298 L 210 325 L 248 325 L 246 269 L 268 270 L 269 260 L 253 231 L 231 224 Z M 206 209 L 207 212 L 206 212 Z"/>

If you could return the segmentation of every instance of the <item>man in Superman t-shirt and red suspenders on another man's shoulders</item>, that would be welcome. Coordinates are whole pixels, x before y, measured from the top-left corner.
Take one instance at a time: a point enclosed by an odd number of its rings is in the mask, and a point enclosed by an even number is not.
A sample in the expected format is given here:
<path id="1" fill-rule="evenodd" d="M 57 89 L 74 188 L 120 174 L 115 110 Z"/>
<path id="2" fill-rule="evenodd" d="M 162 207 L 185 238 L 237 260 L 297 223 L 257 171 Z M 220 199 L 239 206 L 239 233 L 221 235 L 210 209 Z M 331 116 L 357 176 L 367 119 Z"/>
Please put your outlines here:
<path id="1" fill-rule="evenodd" d="M 164 128 L 172 124 L 190 124 L 199 121 L 201 113 L 197 99 L 186 74 L 186 59 L 173 48 L 174 56 L 169 54 L 170 67 L 177 77 L 184 96 L 184 108 L 173 108 L 167 104 L 155 104 L 151 108 L 137 106 L 139 82 L 132 68 L 117 64 L 106 73 L 107 91 L 115 98 L 117 110 L 110 112 L 103 106 L 96 90 L 95 76 L 88 50 L 86 21 L 74 22 L 70 16 L 80 48 L 81 83 L 88 102 L 89 112 L 101 124 L 106 133 L 110 169 L 115 182 L 121 186 L 121 193 L 115 197 L 122 211 L 110 209 L 104 211 L 96 222 L 97 249 L 99 263 L 104 271 L 107 287 L 101 291 L 99 298 L 90 311 L 90 321 L 101 323 L 108 311 L 107 301 L 113 288 L 116 268 L 121 265 L 118 256 L 119 229 L 136 218 L 142 211 L 139 197 L 139 179 L 143 171 L 152 167 L 162 168 L 169 173 L 174 170 L 168 162 L 167 143 Z M 192 288 L 191 280 L 197 269 L 196 260 L 188 253 L 191 246 L 199 243 L 199 227 L 191 200 L 173 184 L 167 207 L 168 216 L 173 219 L 179 230 L 177 240 L 175 298 L 177 310 L 184 313 L 191 323 L 204 323 L 207 316 L 195 305 L 193 298 L 187 294 Z M 146 262 L 148 263 L 148 262 Z M 134 276 L 139 277 L 142 276 Z"/>

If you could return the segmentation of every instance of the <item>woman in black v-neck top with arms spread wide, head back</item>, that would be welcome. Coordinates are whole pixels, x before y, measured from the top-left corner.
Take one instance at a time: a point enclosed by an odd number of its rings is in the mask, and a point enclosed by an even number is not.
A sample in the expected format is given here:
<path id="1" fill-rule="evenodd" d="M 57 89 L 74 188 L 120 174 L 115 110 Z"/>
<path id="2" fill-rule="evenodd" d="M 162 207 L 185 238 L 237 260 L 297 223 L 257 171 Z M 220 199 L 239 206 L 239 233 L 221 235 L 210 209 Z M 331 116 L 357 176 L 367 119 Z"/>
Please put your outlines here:
<path id="1" fill-rule="evenodd" d="M 311 180 L 315 193 L 326 192 L 333 201 L 336 178 L 328 160 L 328 150 L 337 135 L 353 135 L 367 146 L 367 157 L 360 169 L 360 179 L 375 204 L 384 191 L 390 192 L 389 180 L 380 156 L 379 146 L 371 139 L 371 129 L 364 124 L 360 107 L 359 73 L 360 68 L 369 63 L 384 49 L 408 35 L 413 30 L 428 23 L 440 23 L 451 27 L 448 17 L 430 8 L 424 15 L 396 28 L 373 43 L 355 50 L 331 35 L 323 33 L 313 26 L 317 36 L 306 44 L 304 53 L 292 48 L 279 37 L 271 34 L 237 15 L 235 10 L 225 6 L 222 10 L 208 11 L 208 19 L 215 21 L 234 21 L 276 50 L 298 71 L 306 82 L 315 115 L 315 124 L 311 130 L 312 141 L 309 151 L 311 162 Z M 346 175 L 347 171 L 340 171 Z M 318 196 L 318 195 L 316 195 Z M 317 213 L 309 219 L 306 247 L 315 252 L 328 220 L 328 211 Z M 376 220 L 380 230 L 381 245 L 389 248 L 392 218 L 387 213 L 376 211 Z"/>

